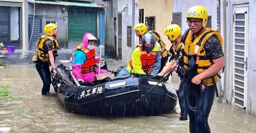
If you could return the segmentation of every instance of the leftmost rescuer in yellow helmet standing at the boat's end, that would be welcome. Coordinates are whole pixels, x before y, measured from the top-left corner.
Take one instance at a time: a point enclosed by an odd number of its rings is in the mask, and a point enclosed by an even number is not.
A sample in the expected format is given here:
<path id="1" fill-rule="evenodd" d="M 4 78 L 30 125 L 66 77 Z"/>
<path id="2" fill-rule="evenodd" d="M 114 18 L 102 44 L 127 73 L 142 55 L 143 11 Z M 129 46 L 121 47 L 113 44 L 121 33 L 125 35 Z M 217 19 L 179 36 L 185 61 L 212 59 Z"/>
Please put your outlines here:
<path id="1" fill-rule="evenodd" d="M 57 52 L 59 49 L 59 42 L 56 39 L 56 36 L 58 35 L 57 25 L 55 23 L 46 24 L 44 32 L 46 36 L 41 36 L 36 42 L 36 70 L 42 80 L 41 94 L 49 95 L 51 85 L 51 72 L 49 66 L 51 66 L 51 71 L 55 74 L 55 59 L 56 56 L 58 56 Z"/>

